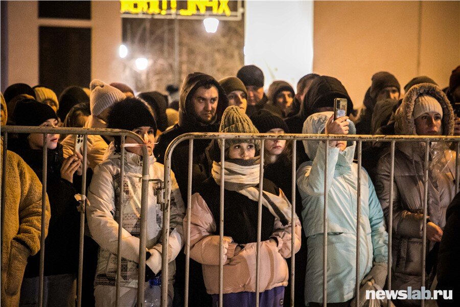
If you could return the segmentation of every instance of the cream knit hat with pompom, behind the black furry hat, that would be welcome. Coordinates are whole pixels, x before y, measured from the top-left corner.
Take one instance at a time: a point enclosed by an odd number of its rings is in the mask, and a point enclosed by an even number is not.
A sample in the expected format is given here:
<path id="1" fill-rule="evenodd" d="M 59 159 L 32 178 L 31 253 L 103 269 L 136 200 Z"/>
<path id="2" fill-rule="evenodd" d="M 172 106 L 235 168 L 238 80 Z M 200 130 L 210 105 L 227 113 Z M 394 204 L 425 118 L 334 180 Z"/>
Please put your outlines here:
<path id="1" fill-rule="evenodd" d="M 91 90 L 89 108 L 91 109 L 91 115 L 96 117 L 99 116 L 106 108 L 126 98 L 125 94 L 123 94 L 119 89 L 116 89 L 115 87 L 98 79 L 91 81 L 89 89 Z"/>

